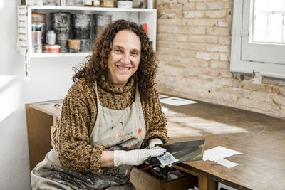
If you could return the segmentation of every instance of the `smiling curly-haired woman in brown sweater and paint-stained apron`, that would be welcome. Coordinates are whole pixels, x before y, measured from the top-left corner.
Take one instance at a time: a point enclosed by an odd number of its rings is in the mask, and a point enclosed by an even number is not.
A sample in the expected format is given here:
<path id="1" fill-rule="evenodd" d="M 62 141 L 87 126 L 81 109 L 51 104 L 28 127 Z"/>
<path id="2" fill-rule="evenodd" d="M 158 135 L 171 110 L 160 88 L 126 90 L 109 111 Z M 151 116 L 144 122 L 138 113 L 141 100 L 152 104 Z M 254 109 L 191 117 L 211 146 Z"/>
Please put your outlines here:
<path id="1" fill-rule="evenodd" d="M 118 20 L 93 47 L 63 100 L 55 147 L 31 171 L 33 189 L 135 189 L 132 166 L 165 153 L 140 149 L 168 141 L 145 32 Z"/>

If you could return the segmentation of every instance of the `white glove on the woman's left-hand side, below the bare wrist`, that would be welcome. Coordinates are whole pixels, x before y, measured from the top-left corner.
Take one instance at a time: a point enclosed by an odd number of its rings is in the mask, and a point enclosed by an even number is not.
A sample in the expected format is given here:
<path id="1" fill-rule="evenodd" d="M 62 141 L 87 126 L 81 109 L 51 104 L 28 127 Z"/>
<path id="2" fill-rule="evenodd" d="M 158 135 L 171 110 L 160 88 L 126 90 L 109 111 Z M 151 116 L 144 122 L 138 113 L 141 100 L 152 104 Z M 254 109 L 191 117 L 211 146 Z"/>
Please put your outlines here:
<path id="1" fill-rule="evenodd" d="M 166 149 L 133 149 L 129 151 L 114 150 L 114 165 L 138 166 L 146 159 L 160 157 L 165 154 Z"/>

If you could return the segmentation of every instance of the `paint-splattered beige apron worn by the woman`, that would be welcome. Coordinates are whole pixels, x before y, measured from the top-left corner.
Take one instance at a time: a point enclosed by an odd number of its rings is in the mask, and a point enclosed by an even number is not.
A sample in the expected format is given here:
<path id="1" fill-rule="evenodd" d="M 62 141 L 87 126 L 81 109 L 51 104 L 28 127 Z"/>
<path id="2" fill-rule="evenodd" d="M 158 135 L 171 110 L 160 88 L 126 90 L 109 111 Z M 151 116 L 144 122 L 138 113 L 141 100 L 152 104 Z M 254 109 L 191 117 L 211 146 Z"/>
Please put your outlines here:
<path id="1" fill-rule="evenodd" d="M 97 83 L 97 118 L 90 134 L 90 144 L 103 145 L 106 150 L 140 149 L 145 138 L 145 120 L 140 102 L 138 85 L 135 102 L 124 110 L 111 110 L 100 104 Z M 32 189 L 135 189 L 130 183 L 132 166 L 105 167 L 102 174 L 74 171 L 61 166 L 56 147 L 46 154 L 45 159 L 31 171 Z"/>

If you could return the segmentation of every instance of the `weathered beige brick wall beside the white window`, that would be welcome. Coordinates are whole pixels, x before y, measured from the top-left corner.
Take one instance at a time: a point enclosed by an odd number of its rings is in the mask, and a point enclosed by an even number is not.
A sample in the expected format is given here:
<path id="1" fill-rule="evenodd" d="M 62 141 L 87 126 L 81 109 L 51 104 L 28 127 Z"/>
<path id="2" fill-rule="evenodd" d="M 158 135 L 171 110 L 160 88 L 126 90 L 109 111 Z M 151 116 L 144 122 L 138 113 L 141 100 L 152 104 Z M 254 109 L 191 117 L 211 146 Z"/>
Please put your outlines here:
<path id="1" fill-rule="evenodd" d="M 156 0 L 160 93 L 285 118 L 285 80 L 229 72 L 231 0 Z"/>

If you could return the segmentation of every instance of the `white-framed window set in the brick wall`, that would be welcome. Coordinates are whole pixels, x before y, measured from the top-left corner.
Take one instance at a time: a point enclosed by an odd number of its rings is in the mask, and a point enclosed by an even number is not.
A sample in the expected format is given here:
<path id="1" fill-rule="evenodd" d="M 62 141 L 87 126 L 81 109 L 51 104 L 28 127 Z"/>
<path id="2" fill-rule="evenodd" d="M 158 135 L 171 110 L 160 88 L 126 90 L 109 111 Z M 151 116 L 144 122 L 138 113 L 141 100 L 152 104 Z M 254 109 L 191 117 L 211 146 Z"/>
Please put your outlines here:
<path id="1" fill-rule="evenodd" d="M 285 0 L 234 0 L 230 70 L 285 79 Z"/>

